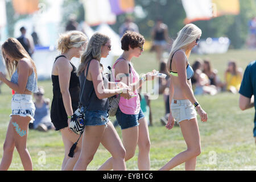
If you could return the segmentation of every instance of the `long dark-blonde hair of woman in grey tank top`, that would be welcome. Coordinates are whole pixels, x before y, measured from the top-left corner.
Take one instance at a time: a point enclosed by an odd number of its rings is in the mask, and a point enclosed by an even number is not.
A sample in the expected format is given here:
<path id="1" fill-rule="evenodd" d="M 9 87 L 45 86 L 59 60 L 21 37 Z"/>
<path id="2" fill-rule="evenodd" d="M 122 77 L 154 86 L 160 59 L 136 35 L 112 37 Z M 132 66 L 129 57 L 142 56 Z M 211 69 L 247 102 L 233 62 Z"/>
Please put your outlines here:
<path id="1" fill-rule="evenodd" d="M 89 43 L 86 47 L 84 53 L 81 56 L 81 63 L 79 68 L 77 69 L 77 76 L 80 76 L 84 71 L 88 62 L 92 59 L 96 59 L 100 62 L 101 60 L 101 47 L 104 46 L 110 40 L 107 35 L 101 34 L 100 32 L 96 32 L 93 34 L 92 38 L 90 38 Z M 101 68 L 102 67 L 102 64 Z"/>

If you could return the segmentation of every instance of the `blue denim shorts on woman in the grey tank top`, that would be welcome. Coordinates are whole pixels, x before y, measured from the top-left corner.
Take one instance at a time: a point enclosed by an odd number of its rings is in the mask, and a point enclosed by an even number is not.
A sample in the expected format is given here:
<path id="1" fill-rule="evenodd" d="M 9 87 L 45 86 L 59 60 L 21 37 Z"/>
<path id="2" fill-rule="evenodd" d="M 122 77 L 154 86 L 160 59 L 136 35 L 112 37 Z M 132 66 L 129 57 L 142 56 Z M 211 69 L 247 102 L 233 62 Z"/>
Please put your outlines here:
<path id="1" fill-rule="evenodd" d="M 85 110 L 85 107 L 82 107 L 81 111 L 85 112 L 85 126 L 108 126 L 109 113 L 107 110 Z"/>

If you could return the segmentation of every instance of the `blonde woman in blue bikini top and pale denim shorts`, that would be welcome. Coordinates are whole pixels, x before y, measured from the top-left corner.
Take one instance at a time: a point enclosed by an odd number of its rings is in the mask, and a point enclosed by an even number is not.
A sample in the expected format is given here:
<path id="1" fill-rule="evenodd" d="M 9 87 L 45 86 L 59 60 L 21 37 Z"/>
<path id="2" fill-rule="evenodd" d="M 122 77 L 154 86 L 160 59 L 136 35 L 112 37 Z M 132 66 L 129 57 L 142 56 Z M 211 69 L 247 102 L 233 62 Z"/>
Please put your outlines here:
<path id="1" fill-rule="evenodd" d="M 197 45 L 202 32 L 195 24 L 187 24 L 178 33 L 168 59 L 168 71 L 171 73 L 170 115 L 166 128 L 174 127 L 174 120 L 179 125 L 187 150 L 172 158 L 160 170 L 170 170 L 185 162 L 185 170 L 195 170 L 196 157 L 201 153 L 200 133 L 197 125 L 197 114 L 206 122 L 207 113 L 197 102 L 191 85 L 193 69 L 188 63 L 191 49 Z"/>

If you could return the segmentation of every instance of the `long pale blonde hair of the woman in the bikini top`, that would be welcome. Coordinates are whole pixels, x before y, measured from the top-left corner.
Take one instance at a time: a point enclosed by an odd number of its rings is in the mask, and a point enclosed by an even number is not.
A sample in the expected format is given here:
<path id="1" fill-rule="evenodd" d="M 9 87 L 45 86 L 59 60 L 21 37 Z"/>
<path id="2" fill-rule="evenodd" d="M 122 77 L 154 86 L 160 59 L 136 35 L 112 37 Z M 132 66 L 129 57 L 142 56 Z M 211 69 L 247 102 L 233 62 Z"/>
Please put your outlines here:
<path id="1" fill-rule="evenodd" d="M 197 39 L 199 35 L 202 34 L 202 31 L 199 27 L 197 27 L 195 24 L 189 23 L 186 24 L 177 34 L 177 38 L 174 40 L 174 43 L 172 44 L 172 49 L 168 58 L 167 62 L 167 68 L 168 71 L 171 71 L 170 64 L 171 64 L 171 57 L 174 55 L 175 51 L 179 49 L 183 49 L 188 46 L 188 44 L 192 43 Z M 189 57 L 191 53 L 191 50 L 187 50 L 185 54 L 187 55 L 187 58 Z"/>

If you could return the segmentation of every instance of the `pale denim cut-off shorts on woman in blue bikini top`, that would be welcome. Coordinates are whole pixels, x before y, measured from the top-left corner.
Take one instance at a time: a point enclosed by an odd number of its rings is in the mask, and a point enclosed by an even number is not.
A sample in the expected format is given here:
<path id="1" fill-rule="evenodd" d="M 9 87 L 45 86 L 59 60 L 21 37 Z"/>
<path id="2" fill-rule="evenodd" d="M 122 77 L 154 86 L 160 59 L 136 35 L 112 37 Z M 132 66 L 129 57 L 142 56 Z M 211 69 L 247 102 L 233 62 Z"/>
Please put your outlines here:
<path id="1" fill-rule="evenodd" d="M 189 100 L 172 100 L 171 102 L 172 117 L 177 123 L 196 118 L 195 107 Z"/>

